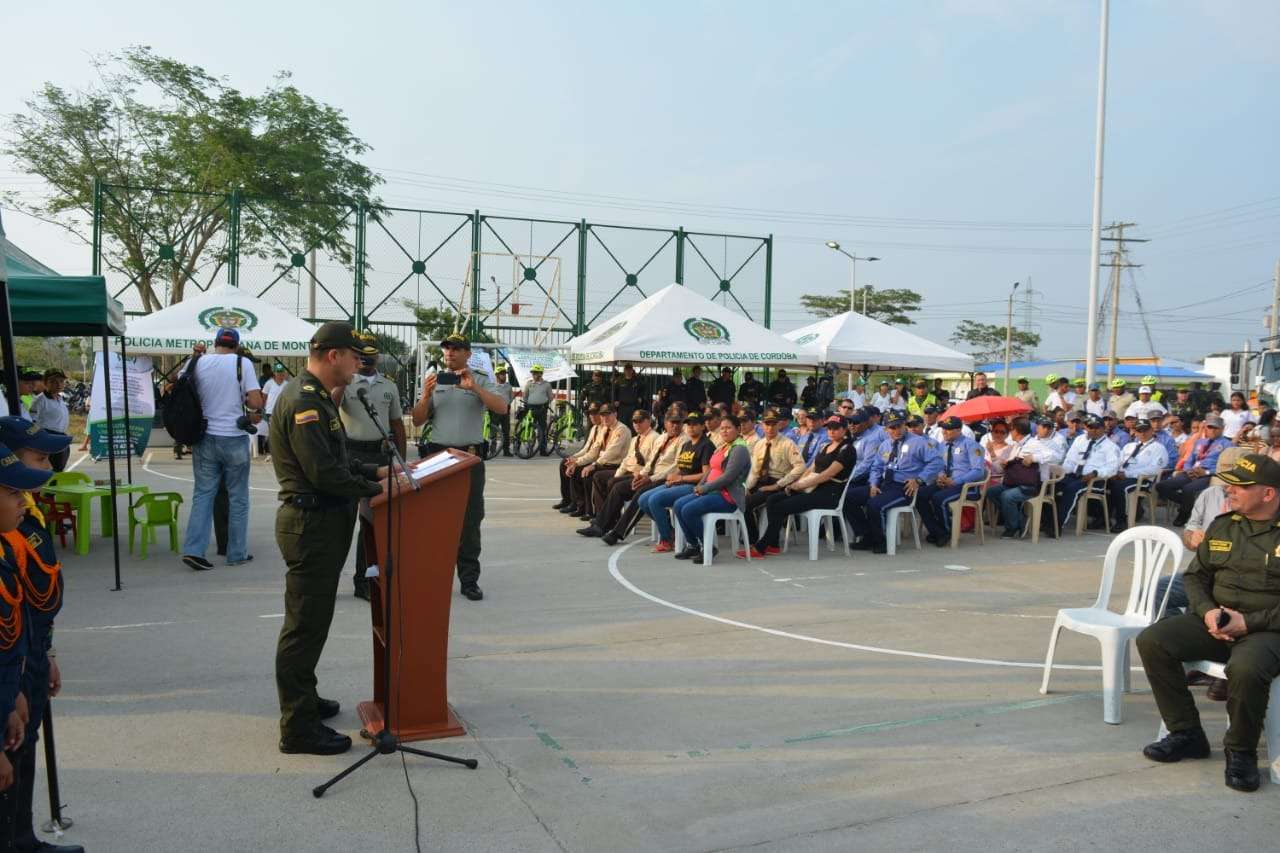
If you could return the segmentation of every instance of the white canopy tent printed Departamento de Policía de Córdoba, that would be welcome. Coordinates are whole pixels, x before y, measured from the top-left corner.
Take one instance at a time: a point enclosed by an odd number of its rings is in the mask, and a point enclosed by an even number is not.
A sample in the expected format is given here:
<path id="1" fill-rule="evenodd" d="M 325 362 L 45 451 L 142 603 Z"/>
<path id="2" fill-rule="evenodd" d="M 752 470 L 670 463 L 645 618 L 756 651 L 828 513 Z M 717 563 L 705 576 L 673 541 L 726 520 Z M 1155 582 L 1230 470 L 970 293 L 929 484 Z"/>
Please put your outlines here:
<path id="1" fill-rule="evenodd" d="M 681 284 L 664 287 L 564 348 L 573 364 L 818 364 L 777 332 Z"/>

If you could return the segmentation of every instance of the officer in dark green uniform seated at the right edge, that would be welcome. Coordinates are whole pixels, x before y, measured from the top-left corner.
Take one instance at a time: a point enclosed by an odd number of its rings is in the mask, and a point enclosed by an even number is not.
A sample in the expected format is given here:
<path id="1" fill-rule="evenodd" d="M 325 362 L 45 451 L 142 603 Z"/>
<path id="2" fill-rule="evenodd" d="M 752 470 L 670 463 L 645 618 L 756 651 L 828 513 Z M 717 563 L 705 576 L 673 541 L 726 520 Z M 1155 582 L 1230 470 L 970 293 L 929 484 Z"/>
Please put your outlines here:
<path id="1" fill-rule="evenodd" d="M 1226 785 L 1251 792 L 1258 788 L 1258 736 L 1271 680 L 1280 675 L 1280 464 L 1249 453 L 1219 476 L 1231 511 L 1210 523 L 1183 575 L 1188 612 L 1138 635 L 1142 666 L 1169 727 L 1142 754 L 1161 762 L 1208 757 L 1183 661 L 1224 662 Z"/>

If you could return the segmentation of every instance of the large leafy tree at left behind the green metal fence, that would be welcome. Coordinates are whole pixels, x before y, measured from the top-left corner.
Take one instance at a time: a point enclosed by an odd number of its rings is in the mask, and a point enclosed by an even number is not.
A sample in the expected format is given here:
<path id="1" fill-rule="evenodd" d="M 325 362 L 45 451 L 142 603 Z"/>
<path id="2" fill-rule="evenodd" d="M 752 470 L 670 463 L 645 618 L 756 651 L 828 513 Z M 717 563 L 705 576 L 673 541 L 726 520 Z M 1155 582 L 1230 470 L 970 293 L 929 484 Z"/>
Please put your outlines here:
<path id="1" fill-rule="evenodd" d="M 351 265 L 343 225 L 357 201 L 376 206 L 381 178 L 356 160 L 369 146 L 339 110 L 300 92 L 287 73 L 244 95 L 148 47 L 93 63 L 99 83 L 45 83 L 13 117 L 3 151 L 54 193 L 8 201 L 87 243 L 93 179 L 120 187 L 102 205 L 102 261 L 131 279 L 145 310 L 164 307 L 161 286 L 169 304 L 180 302 L 197 273 L 212 280 L 227 264 L 233 190 L 255 199 L 252 215 L 241 216 L 242 257 L 283 256 L 283 270 L 291 251 L 315 246 Z"/>

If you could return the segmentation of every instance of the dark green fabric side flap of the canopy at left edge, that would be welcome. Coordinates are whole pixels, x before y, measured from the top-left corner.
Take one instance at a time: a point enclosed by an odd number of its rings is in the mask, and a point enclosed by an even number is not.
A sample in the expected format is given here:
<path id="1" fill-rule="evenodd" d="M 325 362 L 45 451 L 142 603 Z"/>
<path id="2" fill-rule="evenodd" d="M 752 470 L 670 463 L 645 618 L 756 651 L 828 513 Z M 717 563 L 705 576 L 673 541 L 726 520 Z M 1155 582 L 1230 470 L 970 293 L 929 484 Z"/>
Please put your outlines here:
<path id="1" fill-rule="evenodd" d="M 10 273 L 9 315 L 19 337 L 124 334 L 124 307 L 101 275 Z"/>

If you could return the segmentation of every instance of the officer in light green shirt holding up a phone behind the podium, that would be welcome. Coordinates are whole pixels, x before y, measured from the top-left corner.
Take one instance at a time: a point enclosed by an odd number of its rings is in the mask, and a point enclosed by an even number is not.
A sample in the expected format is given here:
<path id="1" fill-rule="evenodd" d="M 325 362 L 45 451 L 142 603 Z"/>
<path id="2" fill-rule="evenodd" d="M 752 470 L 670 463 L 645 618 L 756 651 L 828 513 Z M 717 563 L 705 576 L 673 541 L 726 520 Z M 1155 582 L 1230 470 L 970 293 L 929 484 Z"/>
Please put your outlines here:
<path id="1" fill-rule="evenodd" d="M 471 342 L 461 334 L 440 341 L 444 370 L 429 373 L 422 382 L 422 397 L 413 403 L 413 426 L 431 421 L 431 443 L 428 453 L 456 448 L 480 456 L 484 441 L 484 411 L 507 414 L 507 401 L 498 394 L 493 380 L 467 368 Z M 480 523 L 484 520 L 484 462 L 471 466 L 471 492 L 462 520 L 458 542 L 458 581 L 461 592 L 471 601 L 480 601 Z"/>

